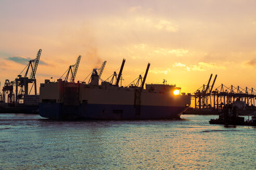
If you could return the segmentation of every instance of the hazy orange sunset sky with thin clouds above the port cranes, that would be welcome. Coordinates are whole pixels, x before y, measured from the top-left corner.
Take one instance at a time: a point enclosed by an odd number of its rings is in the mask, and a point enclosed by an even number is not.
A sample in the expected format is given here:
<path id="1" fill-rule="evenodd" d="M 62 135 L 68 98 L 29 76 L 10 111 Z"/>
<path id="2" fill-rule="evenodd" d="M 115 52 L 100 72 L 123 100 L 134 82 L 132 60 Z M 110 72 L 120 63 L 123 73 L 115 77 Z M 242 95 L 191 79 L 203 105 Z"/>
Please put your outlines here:
<path id="1" fill-rule="evenodd" d="M 256 1 L 0 1 L 0 81 L 14 80 L 42 54 L 37 84 L 58 79 L 82 55 L 76 80 L 105 60 L 102 78 L 121 66 L 123 84 L 177 84 L 194 92 L 216 86 L 256 88 Z"/>

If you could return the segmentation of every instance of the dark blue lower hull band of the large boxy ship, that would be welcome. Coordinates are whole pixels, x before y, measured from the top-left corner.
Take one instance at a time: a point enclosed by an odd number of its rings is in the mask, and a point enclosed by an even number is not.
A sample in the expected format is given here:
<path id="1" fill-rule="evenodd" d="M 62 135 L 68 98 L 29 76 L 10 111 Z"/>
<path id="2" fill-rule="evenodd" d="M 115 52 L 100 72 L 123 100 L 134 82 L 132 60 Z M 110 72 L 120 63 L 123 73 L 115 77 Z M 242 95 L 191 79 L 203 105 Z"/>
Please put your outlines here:
<path id="1" fill-rule="evenodd" d="M 40 103 L 40 116 L 56 120 L 150 120 L 180 118 L 187 107 Z"/>

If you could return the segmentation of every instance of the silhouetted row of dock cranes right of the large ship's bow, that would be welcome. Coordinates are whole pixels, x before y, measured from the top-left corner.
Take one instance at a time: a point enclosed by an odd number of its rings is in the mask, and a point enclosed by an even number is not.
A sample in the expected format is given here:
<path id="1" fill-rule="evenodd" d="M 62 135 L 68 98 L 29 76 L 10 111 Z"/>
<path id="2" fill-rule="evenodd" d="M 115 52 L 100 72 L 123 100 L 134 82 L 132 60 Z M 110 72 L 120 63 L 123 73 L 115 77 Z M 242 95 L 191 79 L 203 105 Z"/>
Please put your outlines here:
<path id="1" fill-rule="evenodd" d="M 256 92 L 253 88 L 241 88 L 233 85 L 227 87 L 221 84 L 215 90 L 213 86 L 217 75 L 215 76 L 212 85 L 210 86 L 212 74 L 208 84 L 203 84 L 202 87 L 197 89 L 191 96 L 195 100 L 195 108 L 198 109 L 216 109 L 221 110 L 223 106 L 234 103 L 243 103 L 246 107 L 254 108 Z"/>

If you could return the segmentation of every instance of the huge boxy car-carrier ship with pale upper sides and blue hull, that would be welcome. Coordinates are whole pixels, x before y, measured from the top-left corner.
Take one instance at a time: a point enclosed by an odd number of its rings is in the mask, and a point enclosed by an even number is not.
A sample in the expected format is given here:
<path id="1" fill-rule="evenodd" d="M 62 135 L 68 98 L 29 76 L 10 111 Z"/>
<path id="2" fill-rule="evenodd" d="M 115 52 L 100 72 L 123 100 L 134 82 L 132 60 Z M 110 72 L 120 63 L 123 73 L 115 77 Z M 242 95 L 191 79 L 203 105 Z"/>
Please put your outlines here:
<path id="1" fill-rule="evenodd" d="M 101 81 L 102 67 L 94 69 L 88 83 L 57 82 L 45 80 L 40 84 L 39 112 L 42 117 L 55 120 L 100 119 L 100 120 L 149 120 L 174 119 L 190 106 L 190 95 L 181 93 L 175 85 L 145 84 L 139 75 L 137 83 L 119 86 L 120 72 L 111 81 Z M 113 78 L 116 76 L 116 83 Z M 140 82 L 140 86 L 139 86 Z M 145 84 L 145 89 L 144 89 Z"/>

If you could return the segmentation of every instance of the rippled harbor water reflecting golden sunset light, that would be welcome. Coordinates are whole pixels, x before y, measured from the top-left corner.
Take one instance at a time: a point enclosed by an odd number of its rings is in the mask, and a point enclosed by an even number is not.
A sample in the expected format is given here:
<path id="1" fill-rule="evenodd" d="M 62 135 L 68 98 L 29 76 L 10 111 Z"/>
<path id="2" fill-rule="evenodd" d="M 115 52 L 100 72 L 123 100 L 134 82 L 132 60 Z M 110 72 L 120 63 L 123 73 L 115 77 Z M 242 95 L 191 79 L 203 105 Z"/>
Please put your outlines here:
<path id="1" fill-rule="evenodd" d="M 0 169 L 256 169 L 256 128 L 182 120 L 53 121 L 0 114 Z"/>

